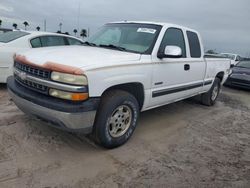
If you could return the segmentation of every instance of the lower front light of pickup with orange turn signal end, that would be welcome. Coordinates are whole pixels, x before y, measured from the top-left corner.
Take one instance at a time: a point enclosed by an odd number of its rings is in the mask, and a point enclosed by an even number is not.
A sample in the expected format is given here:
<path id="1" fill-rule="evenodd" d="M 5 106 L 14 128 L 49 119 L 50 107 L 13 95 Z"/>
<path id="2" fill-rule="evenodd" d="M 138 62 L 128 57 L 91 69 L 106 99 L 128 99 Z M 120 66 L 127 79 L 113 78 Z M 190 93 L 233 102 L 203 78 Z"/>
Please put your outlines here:
<path id="1" fill-rule="evenodd" d="M 49 95 L 52 97 L 71 100 L 71 101 L 83 101 L 89 97 L 88 93 L 71 93 L 57 89 L 50 89 Z"/>

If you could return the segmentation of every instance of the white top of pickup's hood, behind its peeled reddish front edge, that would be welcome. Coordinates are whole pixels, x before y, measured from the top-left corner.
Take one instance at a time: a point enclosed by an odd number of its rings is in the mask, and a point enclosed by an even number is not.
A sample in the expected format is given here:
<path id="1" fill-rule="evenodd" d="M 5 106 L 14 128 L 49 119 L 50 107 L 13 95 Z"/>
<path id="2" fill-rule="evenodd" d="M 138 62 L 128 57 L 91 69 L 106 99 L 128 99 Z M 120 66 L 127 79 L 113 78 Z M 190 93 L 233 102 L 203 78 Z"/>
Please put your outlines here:
<path id="1" fill-rule="evenodd" d="M 32 49 L 17 55 L 43 66 L 47 62 L 91 70 L 113 65 L 132 64 L 140 54 L 91 46 L 63 46 Z"/>

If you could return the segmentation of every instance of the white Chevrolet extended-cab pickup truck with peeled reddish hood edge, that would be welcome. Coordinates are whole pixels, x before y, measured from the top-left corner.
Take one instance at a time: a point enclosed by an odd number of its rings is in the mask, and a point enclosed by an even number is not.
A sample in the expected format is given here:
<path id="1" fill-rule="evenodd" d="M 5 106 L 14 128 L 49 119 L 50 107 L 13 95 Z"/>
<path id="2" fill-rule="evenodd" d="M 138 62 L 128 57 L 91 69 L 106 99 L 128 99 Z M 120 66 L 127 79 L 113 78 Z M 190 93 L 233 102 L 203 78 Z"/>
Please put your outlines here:
<path id="1" fill-rule="evenodd" d="M 195 95 L 213 105 L 229 71 L 230 60 L 204 57 L 192 29 L 116 22 L 84 46 L 17 54 L 7 84 L 23 112 L 114 148 L 130 138 L 140 111 Z"/>

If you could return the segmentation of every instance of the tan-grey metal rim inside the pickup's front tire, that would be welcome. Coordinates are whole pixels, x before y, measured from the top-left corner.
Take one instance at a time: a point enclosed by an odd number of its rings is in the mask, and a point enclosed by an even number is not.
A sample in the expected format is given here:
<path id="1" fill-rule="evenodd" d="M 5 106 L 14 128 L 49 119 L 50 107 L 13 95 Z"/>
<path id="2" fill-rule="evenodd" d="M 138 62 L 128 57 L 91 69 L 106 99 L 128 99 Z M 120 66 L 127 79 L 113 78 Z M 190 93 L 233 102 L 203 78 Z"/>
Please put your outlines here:
<path id="1" fill-rule="evenodd" d="M 127 105 L 117 107 L 108 122 L 109 134 L 114 137 L 124 135 L 132 122 L 132 110 Z"/>

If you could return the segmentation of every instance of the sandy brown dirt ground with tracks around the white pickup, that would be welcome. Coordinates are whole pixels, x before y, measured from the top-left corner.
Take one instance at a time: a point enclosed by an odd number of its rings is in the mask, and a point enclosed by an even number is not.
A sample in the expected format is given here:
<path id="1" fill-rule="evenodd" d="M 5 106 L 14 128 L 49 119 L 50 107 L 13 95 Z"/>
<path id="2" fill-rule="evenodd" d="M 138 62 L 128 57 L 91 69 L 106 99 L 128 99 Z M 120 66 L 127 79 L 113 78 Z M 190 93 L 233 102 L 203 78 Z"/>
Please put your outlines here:
<path id="1" fill-rule="evenodd" d="M 114 150 L 31 119 L 0 85 L 0 187 L 250 187 L 250 92 L 141 114 Z"/>

